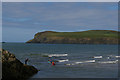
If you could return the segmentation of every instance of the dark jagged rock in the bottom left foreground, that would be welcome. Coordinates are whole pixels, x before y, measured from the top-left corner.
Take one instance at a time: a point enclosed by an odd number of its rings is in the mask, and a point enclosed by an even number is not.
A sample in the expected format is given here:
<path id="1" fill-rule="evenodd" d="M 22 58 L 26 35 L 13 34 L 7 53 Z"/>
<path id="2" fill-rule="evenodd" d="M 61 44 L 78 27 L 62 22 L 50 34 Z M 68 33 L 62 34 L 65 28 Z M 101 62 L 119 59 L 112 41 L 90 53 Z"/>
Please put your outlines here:
<path id="1" fill-rule="evenodd" d="M 38 70 L 29 65 L 21 63 L 14 54 L 1 49 L 2 53 L 2 79 L 3 80 L 26 80 Z"/>

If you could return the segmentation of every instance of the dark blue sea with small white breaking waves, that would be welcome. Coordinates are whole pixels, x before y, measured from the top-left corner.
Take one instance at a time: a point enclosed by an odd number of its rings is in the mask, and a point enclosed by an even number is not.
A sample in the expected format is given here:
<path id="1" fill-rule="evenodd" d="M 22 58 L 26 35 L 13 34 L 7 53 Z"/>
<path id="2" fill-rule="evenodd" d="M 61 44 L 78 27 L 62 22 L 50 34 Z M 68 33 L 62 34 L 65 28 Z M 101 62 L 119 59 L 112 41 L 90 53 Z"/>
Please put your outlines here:
<path id="1" fill-rule="evenodd" d="M 118 45 L 3 43 L 24 63 L 40 71 L 31 78 L 116 78 Z M 48 64 L 55 61 L 55 66 Z"/>

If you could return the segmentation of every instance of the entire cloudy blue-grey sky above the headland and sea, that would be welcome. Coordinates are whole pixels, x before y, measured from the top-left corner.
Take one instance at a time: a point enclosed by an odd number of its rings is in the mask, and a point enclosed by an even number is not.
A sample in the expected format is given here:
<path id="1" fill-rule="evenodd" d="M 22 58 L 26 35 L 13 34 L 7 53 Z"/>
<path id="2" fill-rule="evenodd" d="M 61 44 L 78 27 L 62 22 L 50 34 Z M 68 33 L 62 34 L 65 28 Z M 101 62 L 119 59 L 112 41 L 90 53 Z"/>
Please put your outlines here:
<path id="1" fill-rule="evenodd" d="M 118 30 L 117 2 L 3 2 L 2 40 L 26 42 L 37 32 Z"/>

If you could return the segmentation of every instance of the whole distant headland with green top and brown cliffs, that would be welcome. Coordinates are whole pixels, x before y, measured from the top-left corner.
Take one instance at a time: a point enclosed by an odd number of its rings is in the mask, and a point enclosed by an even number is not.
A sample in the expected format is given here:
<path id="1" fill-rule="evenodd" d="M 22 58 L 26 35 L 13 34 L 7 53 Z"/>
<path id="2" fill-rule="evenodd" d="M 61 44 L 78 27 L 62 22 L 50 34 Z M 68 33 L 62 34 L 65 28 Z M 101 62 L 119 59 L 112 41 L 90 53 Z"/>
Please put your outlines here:
<path id="1" fill-rule="evenodd" d="M 45 31 L 35 34 L 26 43 L 49 44 L 118 44 L 118 33 L 112 30 L 88 30 L 82 32 Z"/>

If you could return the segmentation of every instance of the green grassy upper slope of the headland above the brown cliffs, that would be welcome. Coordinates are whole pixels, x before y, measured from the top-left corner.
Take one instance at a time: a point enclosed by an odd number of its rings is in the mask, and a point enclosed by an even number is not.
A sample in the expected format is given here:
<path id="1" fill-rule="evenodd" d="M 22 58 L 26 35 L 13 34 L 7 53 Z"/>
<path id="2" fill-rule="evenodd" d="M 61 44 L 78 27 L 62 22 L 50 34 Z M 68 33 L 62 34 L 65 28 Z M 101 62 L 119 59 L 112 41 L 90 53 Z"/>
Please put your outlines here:
<path id="1" fill-rule="evenodd" d="M 41 33 L 37 33 L 35 37 L 38 37 Z M 111 30 L 89 30 L 83 32 L 49 32 L 46 31 L 41 37 L 66 37 L 66 38 L 103 38 L 111 37 L 118 38 L 117 31 Z"/>

